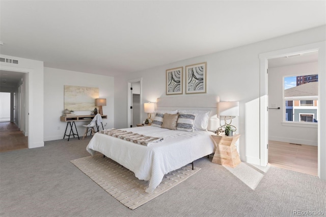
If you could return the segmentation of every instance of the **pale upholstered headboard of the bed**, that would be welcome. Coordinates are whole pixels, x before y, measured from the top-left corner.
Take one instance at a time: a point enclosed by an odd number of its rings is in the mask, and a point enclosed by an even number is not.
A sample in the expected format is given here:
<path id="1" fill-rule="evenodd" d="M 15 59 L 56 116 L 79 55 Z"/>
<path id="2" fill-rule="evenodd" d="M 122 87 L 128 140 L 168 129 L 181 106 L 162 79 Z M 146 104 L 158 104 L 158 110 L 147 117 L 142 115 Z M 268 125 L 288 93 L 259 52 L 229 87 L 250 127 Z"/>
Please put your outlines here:
<path id="1" fill-rule="evenodd" d="M 210 110 L 208 130 L 216 130 L 219 119 L 216 116 L 216 106 L 220 97 L 216 95 L 183 95 L 160 97 L 156 101 L 156 110 Z"/>

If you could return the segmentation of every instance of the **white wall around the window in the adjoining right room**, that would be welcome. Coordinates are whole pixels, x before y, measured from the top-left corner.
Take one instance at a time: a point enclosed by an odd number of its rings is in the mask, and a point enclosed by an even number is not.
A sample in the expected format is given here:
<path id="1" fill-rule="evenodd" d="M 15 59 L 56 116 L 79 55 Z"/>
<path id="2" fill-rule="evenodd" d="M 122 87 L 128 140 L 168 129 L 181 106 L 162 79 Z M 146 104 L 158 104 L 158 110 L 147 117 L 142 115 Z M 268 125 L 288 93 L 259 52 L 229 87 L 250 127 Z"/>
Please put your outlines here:
<path id="1" fill-rule="evenodd" d="M 314 146 L 318 145 L 317 124 L 282 124 L 284 110 L 283 76 L 317 73 L 317 62 L 268 68 L 268 106 L 281 107 L 281 110 L 268 111 L 269 140 Z M 275 104 L 275 106 L 272 106 L 273 104 Z"/>

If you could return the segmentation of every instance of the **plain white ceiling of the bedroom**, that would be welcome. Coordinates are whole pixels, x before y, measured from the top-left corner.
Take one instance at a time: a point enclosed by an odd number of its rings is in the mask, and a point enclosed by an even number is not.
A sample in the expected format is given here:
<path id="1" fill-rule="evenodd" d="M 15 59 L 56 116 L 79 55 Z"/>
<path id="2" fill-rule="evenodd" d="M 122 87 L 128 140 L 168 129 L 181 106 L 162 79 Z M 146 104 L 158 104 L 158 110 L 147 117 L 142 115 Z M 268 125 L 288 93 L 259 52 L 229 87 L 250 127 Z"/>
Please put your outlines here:
<path id="1" fill-rule="evenodd" d="M 1 53 L 118 75 L 324 25 L 325 1 L 1 1 Z"/>

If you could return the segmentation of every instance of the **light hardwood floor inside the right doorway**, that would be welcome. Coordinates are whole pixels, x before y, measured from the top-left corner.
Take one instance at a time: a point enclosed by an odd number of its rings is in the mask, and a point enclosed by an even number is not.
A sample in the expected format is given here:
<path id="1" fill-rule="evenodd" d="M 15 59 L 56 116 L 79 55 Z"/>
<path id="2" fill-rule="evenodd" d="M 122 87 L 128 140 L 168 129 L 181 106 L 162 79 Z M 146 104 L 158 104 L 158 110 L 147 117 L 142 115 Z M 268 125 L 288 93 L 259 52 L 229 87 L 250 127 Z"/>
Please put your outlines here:
<path id="1" fill-rule="evenodd" d="M 317 176 L 318 147 L 268 141 L 268 163 L 274 167 Z"/>

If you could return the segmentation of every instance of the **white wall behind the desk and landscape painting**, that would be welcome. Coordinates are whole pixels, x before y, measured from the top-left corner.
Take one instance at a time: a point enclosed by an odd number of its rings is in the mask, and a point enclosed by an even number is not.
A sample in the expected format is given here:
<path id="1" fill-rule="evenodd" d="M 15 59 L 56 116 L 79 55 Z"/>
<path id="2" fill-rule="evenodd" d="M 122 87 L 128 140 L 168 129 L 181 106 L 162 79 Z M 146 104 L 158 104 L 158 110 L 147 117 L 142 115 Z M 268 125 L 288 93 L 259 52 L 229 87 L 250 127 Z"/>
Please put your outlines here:
<path id="1" fill-rule="evenodd" d="M 113 77 L 44 67 L 44 84 L 44 141 L 63 139 L 67 124 L 60 121 L 60 116 L 65 110 L 64 85 L 99 88 L 99 97 L 106 98 L 106 106 L 103 106 L 103 115 L 107 115 L 107 119 L 103 119 L 103 126 L 106 124 L 104 129 L 113 127 Z M 75 111 L 75 114 L 90 115 L 91 112 Z M 89 122 L 75 122 L 79 136 L 83 136 L 85 132 L 85 127 L 82 125 L 89 124 Z"/>

